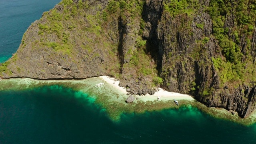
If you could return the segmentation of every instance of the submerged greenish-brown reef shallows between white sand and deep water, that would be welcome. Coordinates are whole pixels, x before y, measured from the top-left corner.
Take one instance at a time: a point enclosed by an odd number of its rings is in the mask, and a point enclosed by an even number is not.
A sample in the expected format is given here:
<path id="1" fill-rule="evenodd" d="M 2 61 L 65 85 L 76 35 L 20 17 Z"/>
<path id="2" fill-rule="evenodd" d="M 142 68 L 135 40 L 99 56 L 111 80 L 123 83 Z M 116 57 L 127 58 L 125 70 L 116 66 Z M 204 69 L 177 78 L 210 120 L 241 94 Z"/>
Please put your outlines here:
<path id="1" fill-rule="evenodd" d="M 157 99 L 143 100 L 145 96 L 136 96 L 138 100 L 127 104 L 128 97 L 126 93 L 116 90 L 111 84 L 105 83 L 102 88 L 96 88 L 95 85 L 104 82 L 101 78 L 87 78 L 84 80 L 34 80 L 30 78 L 12 78 L 4 79 L 0 82 L 0 91 L 31 90 L 44 86 L 60 86 L 61 88 L 70 88 L 76 92 L 86 94 L 93 102 L 106 111 L 108 118 L 112 121 L 120 120 L 122 114 L 144 113 L 152 111 L 161 111 L 164 109 L 180 107 L 199 108 L 215 118 L 226 119 L 242 125 L 251 125 L 256 122 L 256 114 L 253 113 L 247 118 L 240 118 L 238 115 L 232 115 L 222 108 L 208 108 L 196 100 L 179 100 L 180 106 L 177 106 L 173 100 Z M 81 95 L 82 96 L 82 95 Z M 76 96 L 78 97 L 78 96 Z"/>

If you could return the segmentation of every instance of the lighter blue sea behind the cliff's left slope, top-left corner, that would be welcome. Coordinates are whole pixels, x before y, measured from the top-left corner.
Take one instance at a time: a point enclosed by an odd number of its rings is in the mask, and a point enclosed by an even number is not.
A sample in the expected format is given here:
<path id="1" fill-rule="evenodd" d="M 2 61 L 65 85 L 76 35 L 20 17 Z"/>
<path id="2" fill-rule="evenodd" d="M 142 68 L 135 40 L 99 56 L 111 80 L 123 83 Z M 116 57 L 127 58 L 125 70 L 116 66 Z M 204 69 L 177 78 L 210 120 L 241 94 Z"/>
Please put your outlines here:
<path id="1" fill-rule="evenodd" d="M 0 0 L 0 63 L 18 49 L 28 26 L 60 0 Z"/>

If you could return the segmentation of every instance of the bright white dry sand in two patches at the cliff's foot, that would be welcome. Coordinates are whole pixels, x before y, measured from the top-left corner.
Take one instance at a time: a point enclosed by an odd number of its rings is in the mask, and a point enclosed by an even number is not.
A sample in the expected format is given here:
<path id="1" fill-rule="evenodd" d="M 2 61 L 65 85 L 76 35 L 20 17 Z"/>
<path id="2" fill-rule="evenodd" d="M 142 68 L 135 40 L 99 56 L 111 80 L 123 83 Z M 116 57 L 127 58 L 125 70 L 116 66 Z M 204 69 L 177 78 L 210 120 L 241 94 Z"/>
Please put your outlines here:
<path id="1" fill-rule="evenodd" d="M 120 90 L 122 93 L 126 94 L 126 88 L 118 86 L 119 81 L 115 81 L 114 78 L 111 78 L 109 76 L 100 76 L 99 78 L 102 78 L 105 82 L 113 86 L 114 88 Z M 168 92 L 166 90 L 163 90 L 160 88 L 158 92 L 156 92 L 153 95 L 146 94 L 145 96 L 137 96 L 142 101 L 148 101 L 148 100 L 157 100 L 158 96 L 160 96 L 160 100 L 194 100 L 192 96 L 188 94 L 180 94 L 177 92 Z"/>

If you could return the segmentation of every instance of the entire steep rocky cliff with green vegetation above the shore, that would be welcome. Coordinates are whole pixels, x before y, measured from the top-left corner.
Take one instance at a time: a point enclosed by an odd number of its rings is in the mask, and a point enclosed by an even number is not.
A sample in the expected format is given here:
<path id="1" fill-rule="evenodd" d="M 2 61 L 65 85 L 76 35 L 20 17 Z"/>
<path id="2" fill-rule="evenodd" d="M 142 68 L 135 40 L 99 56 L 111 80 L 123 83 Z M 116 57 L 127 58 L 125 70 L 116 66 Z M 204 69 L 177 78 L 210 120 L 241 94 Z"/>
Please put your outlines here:
<path id="1" fill-rule="evenodd" d="M 34 22 L 2 77 L 109 75 L 242 117 L 256 108 L 254 0 L 63 0 Z"/>

